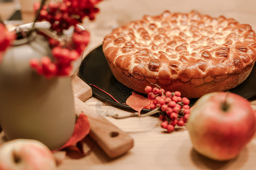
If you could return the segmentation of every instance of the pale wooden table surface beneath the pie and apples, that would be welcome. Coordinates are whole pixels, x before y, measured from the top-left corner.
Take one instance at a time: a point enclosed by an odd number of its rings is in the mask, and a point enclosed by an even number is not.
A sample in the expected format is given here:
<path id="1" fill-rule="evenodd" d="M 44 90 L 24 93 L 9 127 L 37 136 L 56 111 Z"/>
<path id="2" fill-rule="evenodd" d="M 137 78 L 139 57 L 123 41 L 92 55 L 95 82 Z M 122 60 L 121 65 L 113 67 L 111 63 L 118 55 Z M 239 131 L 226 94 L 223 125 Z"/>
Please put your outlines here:
<path id="1" fill-rule="evenodd" d="M 256 28 L 256 1 L 147 1 L 147 0 L 107 0 L 100 3 L 100 14 L 95 21 L 85 20 L 82 24 L 90 31 L 91 41 L 85 56 L 101 45 L 103 37 L 113 28 L 130 20 L 139 19 L 144 14 L 156 15 L 164 10 L 188 12 L 197 10 L 212 16 L 224 15 Z M 0 3 L 0 15 L 6 19 L 13 10 L 11 3 Z M 8 10 L 7 10 L 8 9 Z M 27 19 L 28 21 L 30 19 Z M 127 114 L 133 111 L 114 107 L 105 101 L 90 97 L 85 101 L 96 113 Z M 251 101 L 256 109 L 256 100 Z M 86 149 L 93 147 L 88 156 L 69 153 L 57 169 L 256 169 L 256 135 L 242 150 L 241 154 L 228 162 L 216 162 L 197 154 L 189 140 L 188 131 L 180 128 L 171 134 L 164 133 L 156 117 L 126 118 L 115 120 L 106 117 L 134 139 L 134 147 L 119 158 L 110 159 L 89 136 Z M 1 133 L 1 142 L 5 140 Z"/>

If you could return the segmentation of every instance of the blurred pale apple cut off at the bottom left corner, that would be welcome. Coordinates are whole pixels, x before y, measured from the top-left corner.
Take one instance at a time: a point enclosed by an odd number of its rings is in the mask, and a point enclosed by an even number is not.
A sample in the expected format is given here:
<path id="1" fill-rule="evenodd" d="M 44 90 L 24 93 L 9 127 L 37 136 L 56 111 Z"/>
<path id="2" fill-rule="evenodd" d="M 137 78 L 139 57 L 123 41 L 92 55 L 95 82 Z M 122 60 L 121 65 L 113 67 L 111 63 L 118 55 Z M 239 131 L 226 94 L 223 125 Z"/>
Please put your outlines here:
<path id="1" fill-rule="evenodd" d="M 53 170 L 56 162 L 49 148 L 33 139 L 14 139 L 0 146 L 0 169 Z"/>

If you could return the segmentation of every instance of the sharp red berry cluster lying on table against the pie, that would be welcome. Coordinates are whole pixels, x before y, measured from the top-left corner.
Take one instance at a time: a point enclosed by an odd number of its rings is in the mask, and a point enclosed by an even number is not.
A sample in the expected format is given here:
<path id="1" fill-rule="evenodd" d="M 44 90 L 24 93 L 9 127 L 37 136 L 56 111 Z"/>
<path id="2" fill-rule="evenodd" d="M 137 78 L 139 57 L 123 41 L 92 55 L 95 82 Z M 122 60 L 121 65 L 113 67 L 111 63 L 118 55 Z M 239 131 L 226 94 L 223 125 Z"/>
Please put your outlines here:
<path id="1" fill-rule="evenodd" d="M 146 86 L 148 99 L 153 100 L 151 109 L 159 108 L 159 119 L 163 121 L 161 127 L 168 132 L 175 130 L 175 126 L 184 126 L 190 114 L 189 99 L 181 97 L 179 91 L 170 92 L 163 88 Z"/>

